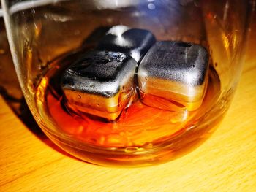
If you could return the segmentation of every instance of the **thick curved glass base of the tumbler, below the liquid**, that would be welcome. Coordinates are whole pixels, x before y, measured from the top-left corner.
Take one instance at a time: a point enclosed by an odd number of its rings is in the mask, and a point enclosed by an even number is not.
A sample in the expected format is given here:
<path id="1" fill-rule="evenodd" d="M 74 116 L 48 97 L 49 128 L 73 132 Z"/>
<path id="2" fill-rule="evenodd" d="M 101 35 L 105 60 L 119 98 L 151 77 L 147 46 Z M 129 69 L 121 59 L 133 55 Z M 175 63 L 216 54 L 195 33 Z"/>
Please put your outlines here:
<path id="1" fill-rule="evenodd" d="M 101 166 L 152 166 L 171 161 L 194 150 L 208 139 L 223 114 L 211 120 L 211 123 L 194 125 L 176 137 L 167 139 L 151 147 L 98 147 L 87 145 L 69 138 L 59 137 L 42 128 L 45 134 L 67 153 L 82 161 Z"/>

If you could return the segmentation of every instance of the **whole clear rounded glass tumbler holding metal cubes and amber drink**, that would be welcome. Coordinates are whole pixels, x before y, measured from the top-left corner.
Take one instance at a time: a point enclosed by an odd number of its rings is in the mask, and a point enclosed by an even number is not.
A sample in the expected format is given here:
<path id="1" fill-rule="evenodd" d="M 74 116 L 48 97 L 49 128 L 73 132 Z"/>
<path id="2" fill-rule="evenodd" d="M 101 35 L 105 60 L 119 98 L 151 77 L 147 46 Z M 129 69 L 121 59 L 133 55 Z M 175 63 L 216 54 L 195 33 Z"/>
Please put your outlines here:
<path id="1" fill-rule="evenodd" d="M 1 0 L 42 131 L 93 164 L 170 161 L 230 106 L 255 1 Z"/>

